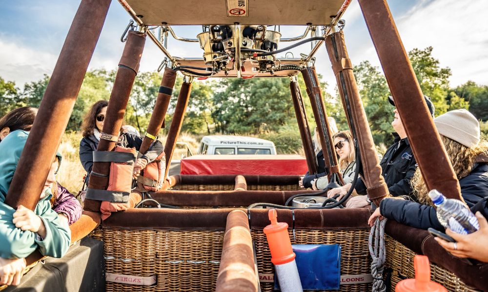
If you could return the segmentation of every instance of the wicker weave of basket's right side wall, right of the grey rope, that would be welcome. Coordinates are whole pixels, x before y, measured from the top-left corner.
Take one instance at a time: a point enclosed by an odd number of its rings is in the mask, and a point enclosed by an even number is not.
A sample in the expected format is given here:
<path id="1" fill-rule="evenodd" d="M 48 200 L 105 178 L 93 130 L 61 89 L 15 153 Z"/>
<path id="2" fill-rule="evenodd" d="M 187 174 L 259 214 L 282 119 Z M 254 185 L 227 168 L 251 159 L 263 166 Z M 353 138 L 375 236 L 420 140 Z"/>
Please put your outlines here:
<path id="1" fill-rule="evenodd" d="M 386 236 L 386 267 L 391 268 L 391 289 L 405 278 L 415 278 L 413 269 L 413 257 L 415 253 L 409 250 L 392 237 Z M 450 292 L 474 292 L 478 291 L 469 288 L 458 277 L 435 264 L 430 264 L 430 276 L 432 281 L 441 283 Z"/>

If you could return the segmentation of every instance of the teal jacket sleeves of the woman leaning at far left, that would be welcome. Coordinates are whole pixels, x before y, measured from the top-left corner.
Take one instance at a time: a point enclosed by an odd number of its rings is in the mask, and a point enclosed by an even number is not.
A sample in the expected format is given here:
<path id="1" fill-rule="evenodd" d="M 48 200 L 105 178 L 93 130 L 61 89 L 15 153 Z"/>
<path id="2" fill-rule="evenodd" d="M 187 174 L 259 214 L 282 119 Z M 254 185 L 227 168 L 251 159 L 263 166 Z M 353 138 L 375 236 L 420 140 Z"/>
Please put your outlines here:
<path id="1" fill-rule="evenodd" d="M 66 254 L 71 233 L 69 228 L 63 227 L 58 214 L 51 210 L 49 201 L 41 200 L 36 208 L 46 228 L 46 237 L 41 238 L 37 233 L 22 231 L 12 223 L 15 210 L 0 203 L 0 257 L 22 258 L 30 255 L 38 247 L 44 256 L 61 257 Z"/>

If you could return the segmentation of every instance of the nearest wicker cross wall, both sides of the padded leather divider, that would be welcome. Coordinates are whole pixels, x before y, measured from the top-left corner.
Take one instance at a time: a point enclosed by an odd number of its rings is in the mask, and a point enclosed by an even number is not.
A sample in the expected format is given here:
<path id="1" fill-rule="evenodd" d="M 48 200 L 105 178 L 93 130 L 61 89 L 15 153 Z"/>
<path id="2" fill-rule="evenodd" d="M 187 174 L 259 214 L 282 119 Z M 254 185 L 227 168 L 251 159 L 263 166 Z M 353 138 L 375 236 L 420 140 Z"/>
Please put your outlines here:
<path id="1" fill-rule="evenodd" d="M 341 274 L 369 273 L 368 229 L 297 229 L 292 243 L 342 245 Z M 274 273 L 262 230 L 252 230 L 259 273 Z M 222 253 L 222 230 L 142 230 L 99 227 L 91 237 L 104 241 L 105 272 L 137 276 L 157 275 L 149 287 L 106 283 L 106 291 L 214 291 Z M 261 283 L 272 291 L 272 283 Z M 369 284 L 341 286 L 341 291 L 366 291 Z"/>

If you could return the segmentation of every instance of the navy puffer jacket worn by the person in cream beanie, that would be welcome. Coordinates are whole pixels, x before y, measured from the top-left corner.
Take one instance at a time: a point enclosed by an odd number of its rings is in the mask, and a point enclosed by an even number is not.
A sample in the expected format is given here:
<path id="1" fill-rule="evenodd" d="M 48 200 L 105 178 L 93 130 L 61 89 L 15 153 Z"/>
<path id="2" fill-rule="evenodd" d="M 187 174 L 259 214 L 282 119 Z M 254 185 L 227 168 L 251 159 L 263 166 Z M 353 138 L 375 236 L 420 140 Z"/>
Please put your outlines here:
<path id="1" fill-rule="evenodd" d="M 485 216 L 487 216 L 488 164 L 475 164 L 471 173 L 459 180 L 459 185 L 461 186 L 461 195 L 468 204 L 468 207 L 471 210 L 476 208 L 474 211 L 484 210 Z M 485 201 L 484 205 L 482 200 Z M 444 230 L 444 227 L 437 220 L 435 208 L 432 206 L 413 201 L 386 199 L 381 201 L 380 210 L 381 215 L 386 218 L 393 219 L 411 227 L 421 229 L 432 227 L 437 230 Z"/>

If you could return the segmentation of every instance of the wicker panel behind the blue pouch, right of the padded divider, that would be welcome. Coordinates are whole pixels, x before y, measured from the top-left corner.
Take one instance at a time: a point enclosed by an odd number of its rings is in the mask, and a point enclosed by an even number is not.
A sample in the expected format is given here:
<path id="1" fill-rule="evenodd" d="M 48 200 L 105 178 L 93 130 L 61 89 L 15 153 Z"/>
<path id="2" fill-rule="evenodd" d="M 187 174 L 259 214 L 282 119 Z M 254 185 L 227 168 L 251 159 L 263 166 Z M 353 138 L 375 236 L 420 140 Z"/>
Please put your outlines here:
<path id="1" fill-rule="evenodd" d="M 340 244 L 341 275 L 369 274 L 371 258 L 367 245 L 369 229 L 355 230 L 295 230 L 288 229 L 292 244 Z M 252 239 L 256 242 L 256 258 L 259 273 L 274 273 L 271 255 L 262 230 L 251 230 Z M 273 291 L 273 283 L 261 283 L 263 292 Z M 341 285 L 341 291 L 370 291 L 371 284 Z"/>

